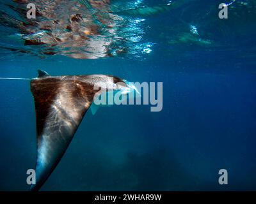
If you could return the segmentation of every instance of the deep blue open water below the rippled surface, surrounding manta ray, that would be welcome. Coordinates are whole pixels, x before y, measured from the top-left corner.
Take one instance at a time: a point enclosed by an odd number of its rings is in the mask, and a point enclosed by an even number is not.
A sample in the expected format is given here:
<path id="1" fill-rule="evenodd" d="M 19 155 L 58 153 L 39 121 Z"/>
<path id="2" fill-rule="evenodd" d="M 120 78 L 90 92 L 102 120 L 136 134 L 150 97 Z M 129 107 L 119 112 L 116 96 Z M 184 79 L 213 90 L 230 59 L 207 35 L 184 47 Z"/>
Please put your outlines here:
<path id="1" fill-rule="evenodd" d="M 56 57 L 58 58 L 58 57 Z M 63 57 L 60 57 L 62 60 Z M 173 73 L 125 59 L 5 62 L 1 73 L 34 77 L 111 73 L 163 82 L 163 110 L 150 106 L 86 113 L 44 190 L 255 189 L 256 78 L 254 74 Z M 76 69 L 70 69 L 76 67 Z M 36 157 L 35 113 L 29 82 L 1 80 L 1 189 L 26 190 Z M 228 186 L 218 170 L 228 170 Z"/>

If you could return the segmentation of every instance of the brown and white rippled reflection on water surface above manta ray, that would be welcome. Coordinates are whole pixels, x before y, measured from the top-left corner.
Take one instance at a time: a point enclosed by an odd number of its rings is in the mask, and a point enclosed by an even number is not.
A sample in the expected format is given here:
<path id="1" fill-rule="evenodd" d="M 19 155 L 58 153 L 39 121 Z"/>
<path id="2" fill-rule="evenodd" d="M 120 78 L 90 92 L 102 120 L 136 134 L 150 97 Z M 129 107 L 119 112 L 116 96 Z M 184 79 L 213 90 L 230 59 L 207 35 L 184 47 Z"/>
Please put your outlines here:
<path id="1" fill-rule="evenodd" d="M 28 3 L 36 5 L 36 19 L 26 18 Z M 140 55 L 151 47 L 142 40 L 144 19 L 113 13 L 137 4 L 112 4 L 108 0 L 2 1 L 1 47 L 19 53 L 79 59 Z"/>

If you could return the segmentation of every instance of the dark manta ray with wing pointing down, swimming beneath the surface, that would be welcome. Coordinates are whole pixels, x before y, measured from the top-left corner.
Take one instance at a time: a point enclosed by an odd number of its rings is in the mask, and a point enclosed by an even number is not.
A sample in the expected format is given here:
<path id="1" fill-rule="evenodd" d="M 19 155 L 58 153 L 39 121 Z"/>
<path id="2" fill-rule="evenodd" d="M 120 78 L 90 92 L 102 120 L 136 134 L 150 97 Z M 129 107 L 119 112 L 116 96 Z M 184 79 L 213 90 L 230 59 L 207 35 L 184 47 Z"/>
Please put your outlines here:
<path id="1" fill-rule="evenodd" d="M 127 94 L 134 87 L 110 75 L 52 77 L 41 70 L 31 80 L 37 142 L 36 184 L 31 191 L 38 191 L 56 168 L 99 90 Z"/>

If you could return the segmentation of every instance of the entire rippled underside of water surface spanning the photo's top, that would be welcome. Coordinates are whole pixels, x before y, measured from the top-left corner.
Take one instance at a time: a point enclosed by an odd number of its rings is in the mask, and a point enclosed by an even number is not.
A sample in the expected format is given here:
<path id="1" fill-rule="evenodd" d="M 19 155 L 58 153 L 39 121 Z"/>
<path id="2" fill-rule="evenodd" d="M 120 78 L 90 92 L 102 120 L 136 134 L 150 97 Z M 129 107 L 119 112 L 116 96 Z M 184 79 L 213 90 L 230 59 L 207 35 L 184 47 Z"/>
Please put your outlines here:
<path id="1" fill-rule="evenodd" d="M 250 59 L 255 57 L 255 47 L 250 45 L 256 42 L 255 0 L 234 1 L 228 7 L 227 20 L 218 18 L 222 1 L 29 3 L 36 4 L 36 19 L 26 18 L 26 0 L 1 1 L 2 56 L 61 54 L 95 59 L 119 55 L 143 59 L 156 50 L 159 56 L 178 61 L 203 53 L 254 64 Z"/>

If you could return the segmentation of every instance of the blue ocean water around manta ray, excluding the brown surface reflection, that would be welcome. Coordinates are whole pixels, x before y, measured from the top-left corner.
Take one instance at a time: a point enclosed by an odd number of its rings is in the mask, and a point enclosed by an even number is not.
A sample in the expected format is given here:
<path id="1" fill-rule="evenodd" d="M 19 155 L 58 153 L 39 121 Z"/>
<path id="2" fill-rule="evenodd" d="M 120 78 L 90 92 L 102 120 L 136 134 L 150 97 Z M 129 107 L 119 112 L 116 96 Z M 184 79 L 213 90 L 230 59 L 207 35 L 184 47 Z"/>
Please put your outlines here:
<path id="1" fill-rule="evenodd" d="M 129 3 L 150 7 L 168 1 Z M 8 38 L 18 31 L 1 18 L 0 77 L 33 78 L 43 69 L 52 76 L 109 74 L 163 82 L 161 112 L 150 112 L 150 105 L 87 112 L 42 191 L 256 190 L 256 2 L 235 1 L 228 19 L 218 18 L 220 3 L 191 0 L 142 16 L 136 31 L 129 31 L 141 40 L 124 45 L 131 52 L 98 59 L 38 55 L 36 45 L 17 52 L 27 47 Z M 27 191 L 26 171 L 36 161 L 29 81 L 0 85 L 0 190 Z M 228 171 L 228 185 L 218 183 L 220 169 Z"/>

